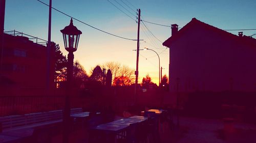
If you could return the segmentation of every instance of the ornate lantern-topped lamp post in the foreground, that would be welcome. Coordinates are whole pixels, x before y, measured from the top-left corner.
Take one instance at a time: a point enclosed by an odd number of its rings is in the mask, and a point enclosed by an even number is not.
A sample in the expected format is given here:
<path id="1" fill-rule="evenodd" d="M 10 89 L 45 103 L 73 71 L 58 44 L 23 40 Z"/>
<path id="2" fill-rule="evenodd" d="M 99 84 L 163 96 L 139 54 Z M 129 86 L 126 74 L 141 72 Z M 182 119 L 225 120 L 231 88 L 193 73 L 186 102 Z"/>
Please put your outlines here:
<path id="1" fill-rule="evenodd" d="M 69 129 L 70 129 L 70 95 L 72 94 L 72 79 L 73 79 L 73 64 L 74 64 L 74 54 L 77 50 L 78 41 L 81 31 L 79 31 L 76 26 L 73 25 L 73 20 L 71 18 L 70 24 L 66 26 L 63 30 L 60 30 L 63 35 L 63 41 L 65 49 L 69 52 L 68 54 L 68 75 L 67 75 L 67 95 L 65 99 L 65 108 L 63 112 L 63 142 L 69 142 Z"/>

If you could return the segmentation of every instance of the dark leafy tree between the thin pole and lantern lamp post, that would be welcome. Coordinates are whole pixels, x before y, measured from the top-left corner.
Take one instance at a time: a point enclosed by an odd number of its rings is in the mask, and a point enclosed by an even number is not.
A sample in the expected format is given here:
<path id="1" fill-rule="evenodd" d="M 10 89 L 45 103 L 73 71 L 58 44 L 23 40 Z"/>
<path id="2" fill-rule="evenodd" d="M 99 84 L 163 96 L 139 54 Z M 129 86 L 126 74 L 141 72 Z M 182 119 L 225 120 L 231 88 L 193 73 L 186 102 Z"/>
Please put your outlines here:
<path id="1" fill-rule="evenodd" d="M 66 78 L 67 76 L 67 57 L 65 55 L 62 54 L 62 52 L 59 49 L 59 45 L 51 42 L 51 47 L 52 49 L 54 49 L 54 61 L 55 61 L 55 65 L 54 65 L 54 78 Z"/>

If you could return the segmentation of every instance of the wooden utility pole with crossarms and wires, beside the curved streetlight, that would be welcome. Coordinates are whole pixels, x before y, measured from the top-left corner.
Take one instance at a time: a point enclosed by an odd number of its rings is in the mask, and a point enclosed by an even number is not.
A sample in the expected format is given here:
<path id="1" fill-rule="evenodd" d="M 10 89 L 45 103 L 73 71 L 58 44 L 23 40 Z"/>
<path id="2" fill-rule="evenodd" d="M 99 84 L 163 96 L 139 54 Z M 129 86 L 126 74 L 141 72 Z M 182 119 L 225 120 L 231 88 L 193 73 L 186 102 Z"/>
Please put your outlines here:
<path id="1" fill-rule="evenodd" d="M 135 94 L 134 94 L 134 101 L 136 101 L 137 98 L 137 87 L 138 87 L 138 76 L 139 76 L 139 49 L 140 49 L 140 9 L 138 10 L 138 36 L 137 36 L 137 60 L 136 60 L 136 71 L 135 71 Z"/>

